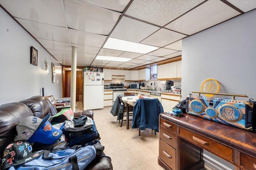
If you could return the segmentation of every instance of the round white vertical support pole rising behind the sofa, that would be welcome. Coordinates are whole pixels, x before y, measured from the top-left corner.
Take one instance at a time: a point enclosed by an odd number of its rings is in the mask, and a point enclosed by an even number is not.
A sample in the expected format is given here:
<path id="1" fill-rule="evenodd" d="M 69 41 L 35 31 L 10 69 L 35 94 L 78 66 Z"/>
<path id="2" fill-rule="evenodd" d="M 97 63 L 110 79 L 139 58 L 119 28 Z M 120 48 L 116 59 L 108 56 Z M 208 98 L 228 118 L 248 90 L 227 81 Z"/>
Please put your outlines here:
<path id="1" fill-rule="evenodd" d="M 72 47 L 70 108 L 73 112 L 76 112 L 76 53 L 77 47 Z"/>

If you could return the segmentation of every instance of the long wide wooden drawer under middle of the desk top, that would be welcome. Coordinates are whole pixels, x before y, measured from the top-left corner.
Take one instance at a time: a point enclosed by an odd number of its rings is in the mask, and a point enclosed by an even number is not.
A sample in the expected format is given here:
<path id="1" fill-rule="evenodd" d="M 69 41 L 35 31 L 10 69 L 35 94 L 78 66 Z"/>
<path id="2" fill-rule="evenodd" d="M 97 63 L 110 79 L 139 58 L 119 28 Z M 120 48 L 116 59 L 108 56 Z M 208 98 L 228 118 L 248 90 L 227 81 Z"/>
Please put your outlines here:
<path id="1" fill-rule="evenodd" d="M 213 154 L 216 154 L 217 156 L 220 156 L 224 158 L 225 160 L 228 160 L 232 162 L 232 149 L 229 147 L 226 147 L 220 143 L 217 143 L 214 140 L 209 139 L 208 137 L 204 137 L 202 135 L 199 135 L 197 133 L 194 133 L 190 130 L 187 130 L 183 127 L 180 127 L 180 136 L 184 137 L 185 139 L 188 139 L 195 145 L 212 152 Z"/>

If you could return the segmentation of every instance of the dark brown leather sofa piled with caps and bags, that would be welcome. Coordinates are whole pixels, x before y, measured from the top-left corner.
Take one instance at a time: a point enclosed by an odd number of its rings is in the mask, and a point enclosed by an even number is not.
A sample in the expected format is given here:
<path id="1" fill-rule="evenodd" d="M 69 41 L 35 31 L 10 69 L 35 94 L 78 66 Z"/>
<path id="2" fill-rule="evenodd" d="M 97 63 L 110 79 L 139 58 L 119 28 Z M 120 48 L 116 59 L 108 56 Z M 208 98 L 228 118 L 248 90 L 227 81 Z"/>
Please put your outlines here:
<path id="1" fill-rule="evenodd" d="M 14 141 L 16 136 L 16 125 L 22 119 L 28 116 L 36 116 L 41 119 L 48 113 L 55 115 L 57 113 L 55 107 L 48 99 L 43 96 L 33 96 L 32 98 L 22 100 L 20 102 L 3 104 L 0 106 L 0 158 L 6 146 Z M 93 119 L 93 111 L 82 111 L 74 113 L 75 117 L 87 115 Z M 97 124 L 97 122 L 95 122 Z M 2 160 L 1 160 L 2 162 Z M 1 170 L 0 164 L 0 170 Z M 112 170 L 111 159 L 106 157 L 96 158 L 87 167 L 86 170 Z"/>

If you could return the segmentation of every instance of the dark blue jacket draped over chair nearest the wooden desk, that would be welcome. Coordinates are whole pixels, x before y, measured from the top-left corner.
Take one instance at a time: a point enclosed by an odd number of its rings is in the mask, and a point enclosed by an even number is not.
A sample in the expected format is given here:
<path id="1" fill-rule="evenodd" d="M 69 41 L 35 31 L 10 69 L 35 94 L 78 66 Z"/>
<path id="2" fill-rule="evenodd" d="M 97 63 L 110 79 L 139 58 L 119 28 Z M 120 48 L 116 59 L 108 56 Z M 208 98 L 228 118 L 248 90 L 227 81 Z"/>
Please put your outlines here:
<path id="1" fill-rule="evenodd" d="M 159 115 L 163 112 L 163 106 L 157 98 L 137 100 L 133 107 L 132 128 L 155 129 L 158 132 Z"/>

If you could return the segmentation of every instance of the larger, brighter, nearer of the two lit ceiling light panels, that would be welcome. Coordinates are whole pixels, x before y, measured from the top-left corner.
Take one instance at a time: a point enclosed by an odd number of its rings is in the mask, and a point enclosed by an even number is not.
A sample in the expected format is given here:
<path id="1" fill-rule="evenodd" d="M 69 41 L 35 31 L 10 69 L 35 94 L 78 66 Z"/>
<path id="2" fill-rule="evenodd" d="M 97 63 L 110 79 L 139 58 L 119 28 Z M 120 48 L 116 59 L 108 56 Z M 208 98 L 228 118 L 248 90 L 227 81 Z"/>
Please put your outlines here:
<path id="1" fill-rule="evenodd" d="M 159 47 L 154 47 L 151 45 L 145 45 L 140 43 L 134 43 L 131 41 L 125 41 L 122 39 L 116 39 L 111 37 L 108 38 L 103 48 L 120 50 L 120 51 L 129 51 L 133 53 L 142 53 L 142 54 L 146 54 L 156 49 L 159 49 Z"/>

